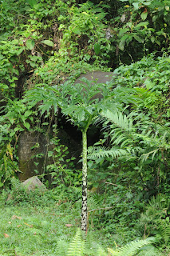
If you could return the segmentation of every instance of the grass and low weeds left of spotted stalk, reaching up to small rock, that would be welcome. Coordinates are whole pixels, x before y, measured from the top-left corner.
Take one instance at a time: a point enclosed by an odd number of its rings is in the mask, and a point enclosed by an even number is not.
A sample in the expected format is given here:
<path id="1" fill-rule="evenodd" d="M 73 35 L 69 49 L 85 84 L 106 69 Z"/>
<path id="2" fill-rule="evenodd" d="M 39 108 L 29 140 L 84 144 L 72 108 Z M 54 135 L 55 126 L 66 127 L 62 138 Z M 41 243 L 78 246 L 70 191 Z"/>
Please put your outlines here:
<path id="1" fill-rule="evenodd" d="M 47 200 L 47 194 L 38 193 L 30 196 L 32 202 L 19 202 L 17 196 L 7 202 L 6 194 L 1 196 L 0 255 L 56 255 L 57 242 L 70 241 L 76 233 L 81 202 L 58 196 Z"/>

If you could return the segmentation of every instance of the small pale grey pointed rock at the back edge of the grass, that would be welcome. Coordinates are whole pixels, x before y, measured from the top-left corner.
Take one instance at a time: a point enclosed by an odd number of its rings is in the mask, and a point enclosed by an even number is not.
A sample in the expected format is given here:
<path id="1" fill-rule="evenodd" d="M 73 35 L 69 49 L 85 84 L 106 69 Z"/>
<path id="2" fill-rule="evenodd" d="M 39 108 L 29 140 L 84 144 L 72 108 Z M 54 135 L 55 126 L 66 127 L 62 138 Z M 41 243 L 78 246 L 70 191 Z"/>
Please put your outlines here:
<path id="1" fill-rule="evenodd" d="M 22 182 L 22 185 L 26 187 L 26 190 L 35 190 L 39 188 L 40 190 L 46 190 L 45 185 L 39 180 L 37 176 L 28 178 L 25 182 Z"/>

